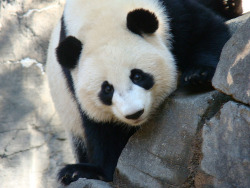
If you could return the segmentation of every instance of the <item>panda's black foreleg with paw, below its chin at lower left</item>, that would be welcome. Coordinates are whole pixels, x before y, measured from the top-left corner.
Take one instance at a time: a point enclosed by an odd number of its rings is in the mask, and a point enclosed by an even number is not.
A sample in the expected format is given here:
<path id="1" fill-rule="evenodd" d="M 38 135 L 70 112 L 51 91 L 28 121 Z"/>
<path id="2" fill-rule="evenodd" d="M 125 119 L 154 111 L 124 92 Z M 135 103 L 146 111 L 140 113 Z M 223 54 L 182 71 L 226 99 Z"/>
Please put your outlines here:
<path id="1" fill-rule="evenodd" d="M 82 148 L 78 144 L 78 147 L 74 147 L 77 158 L 82 160 L 79 160 L 78 164 L 66 165 L 60 170 L 58 181 L 63 185 L 69 185 L 79 178 L 112 181 L 122 149 L 138 128 L 114 123 L 97 123 L 84 116 L 84 129 L 86 153 L 79 152 Z"/>

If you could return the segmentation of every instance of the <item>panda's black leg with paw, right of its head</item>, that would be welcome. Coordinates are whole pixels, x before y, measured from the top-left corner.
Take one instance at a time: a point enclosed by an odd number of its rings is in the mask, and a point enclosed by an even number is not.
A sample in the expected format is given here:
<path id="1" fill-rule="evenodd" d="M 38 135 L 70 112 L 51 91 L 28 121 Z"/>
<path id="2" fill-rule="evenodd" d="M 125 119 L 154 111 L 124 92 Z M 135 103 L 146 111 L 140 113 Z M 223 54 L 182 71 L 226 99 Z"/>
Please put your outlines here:
<path id="1" fill-rule="evenodd" d="M 224 20 L 199 4 L 186 3 L 190 32 L 179 61 L 182 85 L 209 88 L 224 44 L 230 32 Z M 180 37 L 180 36 L 178 36 Z M 183 41 L 182 41 L 183 42 Z M 177 47 L 182 47 L 178 45 Z M 181 54 L 182 55 L 182 54 Z"/>

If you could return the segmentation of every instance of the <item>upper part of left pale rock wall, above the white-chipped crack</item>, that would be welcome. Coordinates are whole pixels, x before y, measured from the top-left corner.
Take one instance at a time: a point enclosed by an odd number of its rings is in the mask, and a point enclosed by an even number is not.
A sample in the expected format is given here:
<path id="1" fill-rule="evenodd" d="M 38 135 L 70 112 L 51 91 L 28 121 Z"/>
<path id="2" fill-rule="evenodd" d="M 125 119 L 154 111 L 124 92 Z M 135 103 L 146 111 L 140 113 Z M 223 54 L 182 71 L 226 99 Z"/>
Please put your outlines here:
<path id="1" fill-rule="evenodd" d="M 45 63 L 50 33 L 63 0 L 1 1 L 0 63 L 26 57 Z"/>

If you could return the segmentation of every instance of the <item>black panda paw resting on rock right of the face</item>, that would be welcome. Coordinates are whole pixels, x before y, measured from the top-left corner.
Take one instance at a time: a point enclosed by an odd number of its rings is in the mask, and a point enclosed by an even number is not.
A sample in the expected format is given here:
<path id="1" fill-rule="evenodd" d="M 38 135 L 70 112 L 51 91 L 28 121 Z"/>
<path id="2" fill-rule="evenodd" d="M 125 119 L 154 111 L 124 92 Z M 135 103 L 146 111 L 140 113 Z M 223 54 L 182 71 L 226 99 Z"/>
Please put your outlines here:
<path id="1" fill-rule="evenodd" d="M 181 84 L 184 86 L 211 86 L 215 69 L 211 67 L 194 67 L 183 72 Z"/>

